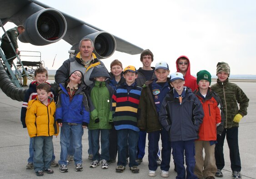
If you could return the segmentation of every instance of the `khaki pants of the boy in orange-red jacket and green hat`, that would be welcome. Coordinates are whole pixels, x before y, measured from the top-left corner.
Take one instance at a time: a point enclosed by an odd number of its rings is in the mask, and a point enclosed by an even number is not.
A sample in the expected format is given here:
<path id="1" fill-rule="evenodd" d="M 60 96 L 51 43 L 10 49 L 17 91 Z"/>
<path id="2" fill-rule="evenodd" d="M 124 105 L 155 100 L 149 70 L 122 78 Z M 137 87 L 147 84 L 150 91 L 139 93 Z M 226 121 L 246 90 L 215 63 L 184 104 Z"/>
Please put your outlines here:
<path id="1" fill-rule="evenodd" d="M 194 174 L 199 178 L 206 178 L 209 176 L 215 176 L 217 171 L 215 163 L 215 144 L 210 145 L 210 141 L 196 140 L 196 166 Z M 203 149 L 205 149 L 205 159 L 203 157 Z"/>

